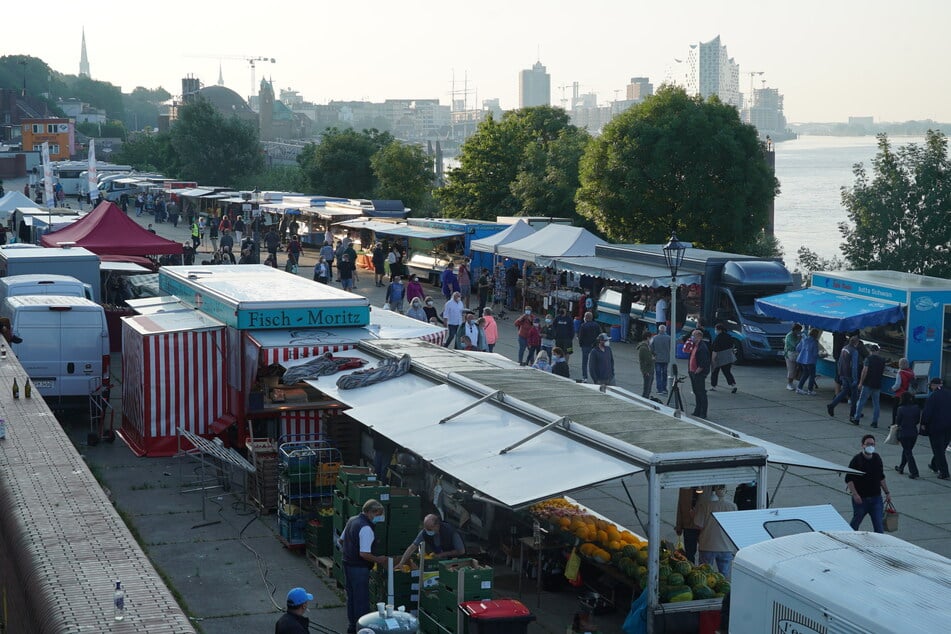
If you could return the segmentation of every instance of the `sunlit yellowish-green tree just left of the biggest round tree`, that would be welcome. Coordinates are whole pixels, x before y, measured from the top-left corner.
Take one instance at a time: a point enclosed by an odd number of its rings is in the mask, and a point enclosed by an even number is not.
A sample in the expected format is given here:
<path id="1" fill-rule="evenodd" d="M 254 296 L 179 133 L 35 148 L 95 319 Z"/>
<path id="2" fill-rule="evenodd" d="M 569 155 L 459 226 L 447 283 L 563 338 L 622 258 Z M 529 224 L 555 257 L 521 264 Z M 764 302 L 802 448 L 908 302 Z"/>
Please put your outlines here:
<path id="1" fill-rule="evenodd" d="M 576 218 L 578 160 L 590 137 L 560 108 L 539 106 L 489 117 L 462 145 L 460 166 L 436 191 L 444 214 Z"/>

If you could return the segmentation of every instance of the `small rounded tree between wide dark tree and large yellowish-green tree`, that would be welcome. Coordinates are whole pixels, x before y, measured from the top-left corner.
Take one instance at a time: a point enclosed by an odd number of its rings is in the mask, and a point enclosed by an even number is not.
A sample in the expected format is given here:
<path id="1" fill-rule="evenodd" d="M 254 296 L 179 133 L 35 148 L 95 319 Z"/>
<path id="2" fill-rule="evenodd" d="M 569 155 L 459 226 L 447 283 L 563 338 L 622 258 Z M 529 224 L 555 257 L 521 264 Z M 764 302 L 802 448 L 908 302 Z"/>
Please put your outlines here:
<path id="1" fill-rule="evenodd" d="M 376 197 L 402 200 L 414 216 L 433 210 L 432 159 L 418 145 L 393 141 L 370 157 L 377 180 Z"/>

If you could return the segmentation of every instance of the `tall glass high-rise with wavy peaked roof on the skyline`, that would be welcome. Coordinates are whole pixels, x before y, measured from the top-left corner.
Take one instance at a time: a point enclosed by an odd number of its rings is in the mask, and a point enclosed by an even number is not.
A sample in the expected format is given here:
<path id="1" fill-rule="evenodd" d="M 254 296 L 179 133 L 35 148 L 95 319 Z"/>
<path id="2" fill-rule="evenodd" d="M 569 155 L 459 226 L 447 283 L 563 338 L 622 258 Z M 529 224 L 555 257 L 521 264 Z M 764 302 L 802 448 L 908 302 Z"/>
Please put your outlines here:
<path id="1" fill-rule="evenodd" d="M 691 44 L 685 61 L 678 60 L 674 83 L 683 86 L 688 95 L 704 99 L 717 95 L 720 101 L 736 108 L 743 105 L 740 94 L 740 66 L 720 44 L 720 36 L 709 42 Z"/>

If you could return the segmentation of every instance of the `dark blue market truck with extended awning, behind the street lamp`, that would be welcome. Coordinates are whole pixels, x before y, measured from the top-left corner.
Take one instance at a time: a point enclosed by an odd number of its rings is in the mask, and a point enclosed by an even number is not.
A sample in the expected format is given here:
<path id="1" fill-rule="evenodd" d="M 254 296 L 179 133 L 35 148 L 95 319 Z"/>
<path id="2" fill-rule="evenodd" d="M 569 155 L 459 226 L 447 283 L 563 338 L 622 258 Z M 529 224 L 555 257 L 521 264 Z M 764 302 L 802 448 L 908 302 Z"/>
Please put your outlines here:
<path id="1" fill-rule="evenodd" d="M 595 255 L 620 261 L 626 277 L 614 276 L 633 285 L 669 286 L 670 272 L 661 244 L 599 245 Z M 793 286 L 793 277 L 782 260 L 737 253 L 687 249 L 677 273 L 683 304 L 687 307 L 686 325 L 699 323 L 714 336 L 717 323 L 726 325 L 735 341 L 738 361 L 782 359 L 786 333 L 792 322 L 758 314 L 757 298 L 776 295 Z M 602 303 L 599 302 L 599 310 Z M 669 315 L 668 315 L 669 318 Z M 635 302 L 631 320 L 654 330 L 653 309 Z M 678 315 L 678 322 L 683 316 Z"/>

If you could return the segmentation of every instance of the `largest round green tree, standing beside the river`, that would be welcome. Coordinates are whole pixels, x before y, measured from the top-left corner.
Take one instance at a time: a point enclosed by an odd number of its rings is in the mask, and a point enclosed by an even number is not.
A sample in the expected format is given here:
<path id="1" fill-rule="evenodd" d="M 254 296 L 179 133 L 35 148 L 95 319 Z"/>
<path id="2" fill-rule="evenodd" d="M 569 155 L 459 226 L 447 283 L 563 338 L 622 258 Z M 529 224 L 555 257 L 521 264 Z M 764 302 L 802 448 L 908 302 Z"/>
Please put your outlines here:
<path id="1" fill-rule="evenodd" d="M 618 242 L 665 243 L 676 231 L 697 246 L 743 253 L 778 191 L 756 130 L 736 108 L 664 86 L 589 144 L 577 201 Z"/>

